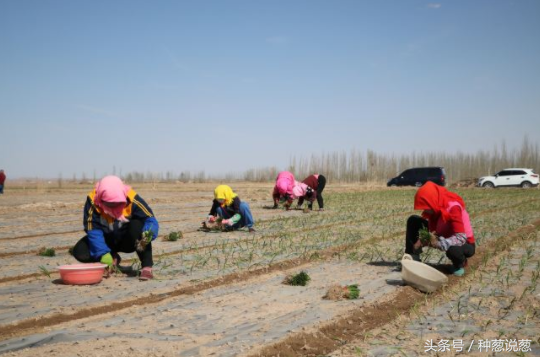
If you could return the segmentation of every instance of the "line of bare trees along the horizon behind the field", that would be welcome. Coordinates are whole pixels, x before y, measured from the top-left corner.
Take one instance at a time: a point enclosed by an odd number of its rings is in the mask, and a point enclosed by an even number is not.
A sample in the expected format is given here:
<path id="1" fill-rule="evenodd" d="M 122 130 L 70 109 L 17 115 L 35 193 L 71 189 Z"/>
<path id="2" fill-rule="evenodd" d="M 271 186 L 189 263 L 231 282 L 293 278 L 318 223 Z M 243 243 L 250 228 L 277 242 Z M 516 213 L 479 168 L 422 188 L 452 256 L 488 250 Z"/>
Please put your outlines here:
<path id="1" fill-rule="evenodd" d="M 383 183 L 412 167 L 441 166 L 445 168 L 447 180 L 458 182 L 477 179 L 481 176 L 495 174 L 508 167 L 540 168 L 540 150 L 537 143 L 525 137 L 521 146 L 509 150 L 505 142 L 495 145 L 490 151 L 476 153 L 445 152 L 412 152 L 407 154 L 380 154 L 373 150 L 365 152 L 351 150 L 349 152 L 329 152 L 312 154 L 310 157 L 292 156 L 288 167 L 299 180 L 313 174 L 324 174 L 329 182 L 374 182 Z M 175 174 L 130 172 L 120 175 L 126 182 L 226 182 L 250 181 L 272 182 L 282 169 L 262 167 L 247 170 L 243 173 L 227 173 L 208 175 L 204 171 L 190 173 L 188 171 Z"/>

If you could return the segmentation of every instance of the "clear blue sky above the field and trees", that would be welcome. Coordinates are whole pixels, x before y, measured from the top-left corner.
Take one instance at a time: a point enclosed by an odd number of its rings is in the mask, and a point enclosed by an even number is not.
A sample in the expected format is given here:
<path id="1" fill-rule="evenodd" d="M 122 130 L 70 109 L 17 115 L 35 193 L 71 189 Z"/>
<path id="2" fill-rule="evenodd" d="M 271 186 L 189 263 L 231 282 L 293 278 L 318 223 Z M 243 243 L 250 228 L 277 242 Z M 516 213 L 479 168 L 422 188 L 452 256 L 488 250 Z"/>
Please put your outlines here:
<path id="1" fill-rule="evenodd" d="M 8 177 L 540 142 L 540 1 L 0 0 Z"/>

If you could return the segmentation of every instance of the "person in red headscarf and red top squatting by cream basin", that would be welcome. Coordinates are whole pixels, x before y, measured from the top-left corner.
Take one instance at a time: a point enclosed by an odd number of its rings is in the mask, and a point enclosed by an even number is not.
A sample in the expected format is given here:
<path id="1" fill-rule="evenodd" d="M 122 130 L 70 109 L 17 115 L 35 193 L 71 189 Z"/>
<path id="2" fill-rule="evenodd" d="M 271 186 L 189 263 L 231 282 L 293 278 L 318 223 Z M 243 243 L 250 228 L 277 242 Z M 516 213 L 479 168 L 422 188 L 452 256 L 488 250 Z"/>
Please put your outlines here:
<path id="1" fill-rule="evenodd" d="M 423 210 L 422 217 L 413 215 L 407 220 L 405 253 L 420 261 L 422 246 L 445 251 L 454 266 L 453 274 L 463 276 L 467 258 L 475 252 L 474 234 L 463 199 L 428 181 L 416 192 L 414 209 Z M 428 242 L 422 243 L 419 231 L 426 227 L 434 233 L 430 233 Z"/>

